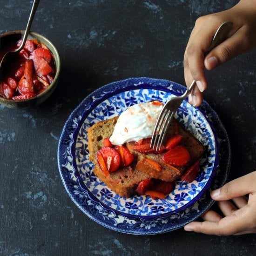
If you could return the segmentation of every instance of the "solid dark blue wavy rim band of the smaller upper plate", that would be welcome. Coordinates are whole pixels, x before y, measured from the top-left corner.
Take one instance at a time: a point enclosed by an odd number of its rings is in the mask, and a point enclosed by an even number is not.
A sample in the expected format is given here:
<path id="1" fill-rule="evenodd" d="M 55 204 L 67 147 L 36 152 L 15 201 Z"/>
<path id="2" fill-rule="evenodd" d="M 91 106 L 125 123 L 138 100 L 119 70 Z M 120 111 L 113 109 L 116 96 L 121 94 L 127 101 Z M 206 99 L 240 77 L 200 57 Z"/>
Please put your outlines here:
<path id="1" fill-rule="evenodd" d="M 102 87 L 103 89 L 104 87 Z M 214 178 L 214 175 L 216 173 L 216 168 L 218 167 L 218 164 L 219 164 L 219 145 L 218 145 L 218 142 L 217 142 L 217 135 L 216 135 L 216 131 L 213 127 L 213 124 L 211 123 L 211 121 L 208 119 L 207 115 L 204 113 L 204 111 L 200 110 L 199 108 L 197 108 L 200 113 L 205 117 L 205 120 L 209 123 L 209 126 L 210 128 L 212 129 L 212 132 L 213 132 L 213 135 L 215 137 L 215 147 L 216 147 L 216 161 L 214 163 L 214 167 L 213 167 L 213 171 L 211 173 L 211 176 L 207 182 L 207 184 L 203 187 L 202 191 L 199 192 L 198 195 L 195 196 L 195 198 L 193 198 L 191 201 L 187 202 L 184 206 L 178 208 L 178 209 L 175 209 L 171 212 L 168 212 L 168 213 L 162 213 L 162 214 L 159 214 L 159 215 L 154 215 L 154 216 L 143 216 L 143 215 L 132 215 L 132 214 L 128 214 L 128 213 L 123 213 L 121 211 L 118 211 L 116 209 L 113 209 L 111 207 L 109 207 L 108 205 L 104 204 L 103 202 L 99 201 L 89 190 L 88 188 L 86 187 L 86 185 L 84 184 L 84 182 L 82 181 L 81 179 L 81 175 L 79 174 L 78 172 L 78 169 L 77 169 L 77 165 L 76 165 L 76 159 L 75 159 L 75 141 L 76 141 L 76 138 L 78 136 L 78 133 L 80 131 L 80 128 L 81 128 L 81 125 L 83 124 L 83 122 L 85 121 L 85 119 L 87 118 L 87 116 L 90 114 L 90 112 L 92 111 L 93 108 L 95 108 L 97 105 L 99 105 L 102 101 L 105 101 L 106 99 L 108 99 L 109 97 L 115 95 L 115 94 L 119 94 L 119 93 L 122 93 L 124 91 L 130 91 L 130 90 L 134 90 L 134 89 L 154 89 L 154 90 L 161 90 L 161 91 L 164 91 L 164 92 L 167 92 L 167 93 L 171 93 L 171 94 L 174 94 L 174 95 L 181 95 L 181 93 L 175 93 L 174 91 L 168 89 L 168 88 L 164 88 L 162 86 L 151 86 L 149 84 L 146 84 L 146 83 L 141 83 L 139 85 L 131 85 L 131 86 L 126 86 L 124 88 L 117 88 L 115 89 L 113 92 L 110 92 L 110 93 L 107 93 L 107 94 L 104 94 L 104 96 L 102 96 L 101 98 L 93 101 L 90 106 L 88 106 L 88 109 L 86 111 L 83 112 L 82 116 L 81 116 L 81 120 L 78 122 L 78 126 L 77 128 L 74 130 L 74 133 L 73 133 L 73 141 L 74 143 L 72 144 L 71 146 L 71 155 L 73 155 L 73 161 L 72 161 L 72 165 L 75 169 L 75 176 L 76 178 L 78 179 L 78 182 L 81 186 L 82 189 L 86 190 L 88 192 L 88 195 L 89 197 L 91 198 L 91 200 L 93 200 L 94 202 L 98 202 L 101 204 L 101 206 L 106 209 L 106 210 L 113 210 L 116 214 L 120 214 L 122 216 L 125 216 L 129 219 L 136 219 L 136 218 L 140 218 L 142 220 L 150 220 L 150 219 L 155 219 L 155 218 L 165 218 L 167 216 L 170 216 L 171 214 L 173 213 L 178 213 L 184 209 L 187 209 L 189 207 L 191 207 L 204 193 L 207 189 L 209 189 L 210 185 L 211 185 L 211 182 L 212 182 L 212 179 Z M 195 108 L 195 107 L 193 107 Z"/>

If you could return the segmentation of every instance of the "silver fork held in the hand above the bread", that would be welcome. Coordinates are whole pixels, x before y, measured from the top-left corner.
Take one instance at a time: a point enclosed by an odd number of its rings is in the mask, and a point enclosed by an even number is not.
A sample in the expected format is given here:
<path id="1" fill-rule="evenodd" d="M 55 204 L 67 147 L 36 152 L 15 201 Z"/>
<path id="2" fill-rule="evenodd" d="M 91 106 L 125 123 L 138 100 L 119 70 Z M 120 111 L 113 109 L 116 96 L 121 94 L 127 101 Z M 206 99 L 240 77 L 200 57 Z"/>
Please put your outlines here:
<path id="1" fill-rule="evenodd" d="M 217 45 L 222 43 L 228 36 L 233 23 L 232 22 L 224 22 L 221 24 L 221 26 L 217 29 L 213 40 L 211 42 L 211 45 L 209 47 L 210 52 L 213 48 L 215 48 Z M 193 88 L 195 87 L 195 80 L 191 83 L 189 88 L 186 90 L 184 94 L 181 96 L 175 96 L 171 98 L 169 101 L 165 103 L 165 105 L 162 108 L 162 111 L 156 121 L 154 132 L 152 135 L 150 147 L 154 150 L 160 150 L 162 143 L 166 137 L 168 127 L 171 123 L 171 121 L 174 118 L 174 115 L 181 105 L 182 101 L 188 97 L 188 95 L 192 92 Z"/>

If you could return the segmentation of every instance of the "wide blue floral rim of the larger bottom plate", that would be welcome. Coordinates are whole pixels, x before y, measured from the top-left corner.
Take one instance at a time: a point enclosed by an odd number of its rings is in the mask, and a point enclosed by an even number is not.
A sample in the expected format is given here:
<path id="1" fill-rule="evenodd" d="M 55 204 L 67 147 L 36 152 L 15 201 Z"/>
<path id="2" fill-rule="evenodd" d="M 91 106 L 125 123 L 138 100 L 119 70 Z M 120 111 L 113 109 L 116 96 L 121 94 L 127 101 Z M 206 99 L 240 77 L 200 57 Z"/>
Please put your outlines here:
<path id="1" fill-rule="evenodd" d="M 81 209 L 81 211 L 85 215 L 87 215 L 92 220 L 108 229 L 134 235 L 155 235 L 182 228 L 187 223 L 194 221 L 196 218 L 201 216 L 211 207 L 214 201 L 211 199 L 208 192 L 206 192 L 206 194 L 203 195 L 203 197 L 200 198 L 193 207 L 191 207 L 190 209 L 186 209 L 181 213 L 173 214 L 172 216 L 168 216 L 167 218 L 163 219 L 160 218 L 156 220 L 147 221 L 138 219 L 133 223 L 128 223 L 126 220 L 123 220 L 122 222 L 117 221 L 117 219 L 120 216 L 115 216 L 112 212 L 108 212 L 105 211 L 104 209 L 98 208 L 95 204 L 88 205 L 84 203 L 86 201 L 87 195 L 83 195 L 84 191 L 80 190 L 78 182 L 71 180 L 70 166 L 68 168 L 65 166 L 65 163 L 67 162 L 67 152 L 69 148 L 69 143 L 72 140 L 70 134 L 72 134 L 72 132 L 74 131 L 74 128 L 71 125 L 71 121 L 72 119 L 78 119 L 79 113 L 82 112 L 81 109 L 83 108 L 83 104 L 86 102 L 86 100 L 90 101 L 88 99 L 92 98 L 92 96 L 95 93 L 101 92 L 102 88 L 106 89 L 107 87 L 113 86 L 120 87 L 118 82 L 121 82 L 121 85 L 131 83 L 138 84 L 140 82 L 144 82 L 152 85 L 161 84 L 166 87 L 169 87 L 170 84 L 175 84 L 175 86 L 178 87 L 181 86 L 180 84 L 168 80 L 138 77 L 112 82 L 89 94 L 69 115 L 61 132 L 57 152 L 58 167 L 61 176 L 61 181 L 63 182 L 67 194 L 70 196 L 71 200 L 76 204 L 76 206 L 79 209 Z M 182 86 L 182 88 L 184 87 Z M 111 89 L 108 90 L 111 91 Z M 215 124 L 217 134 L 221 135 L 221 137 L 223 138 L 222 144 L 220 145 L 220 150 L 224 152 L 224 155 L 222 159 L 220 159 L 219 168 L 217 168 L 216 176 L 213 179 L 212 186 L 210 188 L 212 190 L 221 187 L 226 182 L 227 177 L 229 175 L 231 162 L 230 142 L 227 131 L 225 130 L 216 112 L 209 106 L 209 104 L 206 101 L 203 101 L 201 106 L 203 109 L 206 110 L 207 114 L 210 113 L 212 121 Z"/>

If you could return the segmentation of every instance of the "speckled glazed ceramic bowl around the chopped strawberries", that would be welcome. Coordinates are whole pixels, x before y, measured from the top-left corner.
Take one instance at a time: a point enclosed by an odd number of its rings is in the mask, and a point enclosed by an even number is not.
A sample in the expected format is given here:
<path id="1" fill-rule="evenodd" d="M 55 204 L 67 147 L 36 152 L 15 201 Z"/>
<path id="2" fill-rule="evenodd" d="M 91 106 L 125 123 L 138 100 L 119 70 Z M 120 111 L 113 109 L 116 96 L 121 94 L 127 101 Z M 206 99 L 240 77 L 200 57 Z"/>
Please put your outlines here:
<path id="1" fill-rule="evenodd" d="M 19 35 L 21 38 L 22 34 L 24 34 L 24 30 L 15 30 L 15 31 L 4 33 L 4 34 L 0 34 L 0 46 L 1 44 L 4 44 L 5 41 L 7 41 L 7 37 L 13 37 L 13 39 L 17 38 L 19 40 Z M 54 81 L 49 85 L 49 87 L 45 91 L 27 100 L 14 101 L 14 100 L 9 100 L 9 99 L 0 97 L 0 104 L 4 104 L 8 108 L 20 108 L 20 107 L 27 107 L 29 105 L 31 106 L 39 105 L 43 101 L 47 100 L 47 98 L 54 92 L 54 89 L 57 86 L 57 82 L 60 75 L 60 69 L 61 69 L 61 61 L 60 61 L 60 56 L 58 51 L 53 45 L 53 43 L 43 35 L 40 35 L 35 32 L 30 32 L 28 34 L 27 39 L 33 39 L 33 38 L 36 38 L 40 42 L 44 43 L 54 55 L 54 63 L 56 67 L 56 74 L 54 77 Z"/>

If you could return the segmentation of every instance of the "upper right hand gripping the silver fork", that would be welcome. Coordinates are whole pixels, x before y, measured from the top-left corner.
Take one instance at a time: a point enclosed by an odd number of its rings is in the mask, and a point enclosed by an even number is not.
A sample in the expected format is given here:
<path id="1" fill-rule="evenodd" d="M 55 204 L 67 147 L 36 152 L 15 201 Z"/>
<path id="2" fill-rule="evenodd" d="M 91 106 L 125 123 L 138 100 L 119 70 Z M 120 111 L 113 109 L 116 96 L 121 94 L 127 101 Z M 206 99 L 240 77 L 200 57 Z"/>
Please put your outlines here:
<path id="1" fill-rule="evenodd" d="M 207 54 L 217 28 L 225 21 L 233 22 L 228 39 Z M 204 68 L 212 70 L 222 63 L 256 47 L 256 0 L 240 0 L 229 10 L 198 18 L 184 54 L 184 76 L 187 86 L 196 85 L 189 95 L 194 106 L 202 103 L 207 88 Z M 207 55 L 206 55 L 207 54 Z M 205 56 L 206 55 L 206 56 Z"/>

